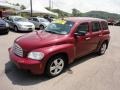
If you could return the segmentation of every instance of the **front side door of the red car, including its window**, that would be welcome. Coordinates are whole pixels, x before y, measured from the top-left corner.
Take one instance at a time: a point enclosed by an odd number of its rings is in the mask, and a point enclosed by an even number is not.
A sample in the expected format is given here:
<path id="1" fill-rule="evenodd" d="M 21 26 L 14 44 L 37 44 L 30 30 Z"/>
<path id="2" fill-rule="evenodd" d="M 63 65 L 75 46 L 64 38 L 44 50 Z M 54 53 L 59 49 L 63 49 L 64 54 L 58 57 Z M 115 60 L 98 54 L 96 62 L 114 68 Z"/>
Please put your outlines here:
<path id="1" fill-rule="evenodd" d="M 80 33 L 85 33 L 84 35 L 80 35 Z M 92 40 L 91 40 L 91 30 L 90 23 L 81 23 L 76 33 L 79 35 L 76 36 L 76 55 L 77 57 L 81 57 L 89 54 L 92 51 Z"/>

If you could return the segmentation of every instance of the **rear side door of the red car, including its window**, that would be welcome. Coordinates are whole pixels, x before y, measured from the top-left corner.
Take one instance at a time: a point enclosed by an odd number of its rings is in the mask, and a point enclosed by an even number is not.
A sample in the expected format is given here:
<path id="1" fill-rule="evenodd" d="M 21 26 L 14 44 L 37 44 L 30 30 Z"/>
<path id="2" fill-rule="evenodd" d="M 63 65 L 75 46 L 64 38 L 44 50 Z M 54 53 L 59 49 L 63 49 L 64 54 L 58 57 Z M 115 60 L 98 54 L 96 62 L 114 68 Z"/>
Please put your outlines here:
<path id="1" fill-rule="evenodd" d="M 97 46 L 102 38 L 102 30 L 101 30 L 100 22 L 98 21 L 92 22 L 91 30 L 92 30 L 92 35 L 91 35 L 92 50 L 95 50 L 97 49 Z"/>

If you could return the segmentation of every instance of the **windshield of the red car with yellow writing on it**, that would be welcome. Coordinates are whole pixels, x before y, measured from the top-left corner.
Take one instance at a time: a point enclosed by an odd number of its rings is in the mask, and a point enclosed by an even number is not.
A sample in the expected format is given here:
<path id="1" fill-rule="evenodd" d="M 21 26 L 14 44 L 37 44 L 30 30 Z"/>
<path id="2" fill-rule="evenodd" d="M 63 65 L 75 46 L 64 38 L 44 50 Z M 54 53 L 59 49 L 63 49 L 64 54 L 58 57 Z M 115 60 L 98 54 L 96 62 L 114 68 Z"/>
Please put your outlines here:
<path id="1" fill-rule="evenodd" d="M 74 22 L 65 21 L 62 23 L 51 23 L 45 29 L 46 32 L 55 33 L 55 34 L 68 34 L 73 27 Z"/>

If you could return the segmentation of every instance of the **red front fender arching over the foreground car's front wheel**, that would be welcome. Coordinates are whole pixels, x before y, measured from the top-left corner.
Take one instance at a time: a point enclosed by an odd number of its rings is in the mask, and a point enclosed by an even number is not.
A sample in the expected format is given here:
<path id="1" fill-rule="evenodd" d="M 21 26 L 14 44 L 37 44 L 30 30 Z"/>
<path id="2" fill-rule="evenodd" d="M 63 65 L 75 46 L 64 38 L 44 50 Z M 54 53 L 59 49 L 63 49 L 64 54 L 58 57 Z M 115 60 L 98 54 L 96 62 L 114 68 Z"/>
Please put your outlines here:
<path id="1" fill-rule="evenodd" d="M 47 62 L 52 56 L 59 53 L 66 53 L 68 56 L 68 63 L 75 59 L 75 47 L 73 44 L 55 45 L 45 48 L 40 48 L 35 51 L 43 52 L 45 54 L 44 62 Z"/>

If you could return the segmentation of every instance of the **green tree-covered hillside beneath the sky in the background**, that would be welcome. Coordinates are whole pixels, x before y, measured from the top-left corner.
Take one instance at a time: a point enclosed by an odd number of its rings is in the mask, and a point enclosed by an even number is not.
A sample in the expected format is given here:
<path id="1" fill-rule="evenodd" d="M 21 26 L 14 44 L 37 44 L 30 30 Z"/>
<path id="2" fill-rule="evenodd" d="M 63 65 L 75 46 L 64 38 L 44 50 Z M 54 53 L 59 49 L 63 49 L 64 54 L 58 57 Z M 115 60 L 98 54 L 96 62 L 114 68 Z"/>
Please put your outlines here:
<path id="1" fill-rule="evenodd" d="M 95 18 L 102 18 L 102 19 L 110 19 L 111 18 L 114 20 L 120 19 L 120 14 L 109 13 L 109 12 L 104 12 L 104 11 L 90 11 L 90 12 L 82 13 L 77 9 L 73 9 L 72 14 L 64 12 L 60 9 L 52 9 L 50 11 L 58 13 L 59 17 L 77 16 L 77 17 L 95 17 Z"/>

